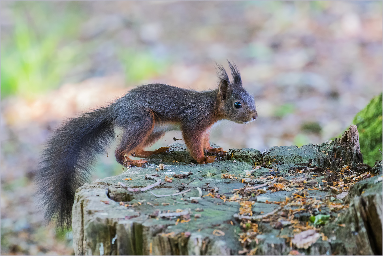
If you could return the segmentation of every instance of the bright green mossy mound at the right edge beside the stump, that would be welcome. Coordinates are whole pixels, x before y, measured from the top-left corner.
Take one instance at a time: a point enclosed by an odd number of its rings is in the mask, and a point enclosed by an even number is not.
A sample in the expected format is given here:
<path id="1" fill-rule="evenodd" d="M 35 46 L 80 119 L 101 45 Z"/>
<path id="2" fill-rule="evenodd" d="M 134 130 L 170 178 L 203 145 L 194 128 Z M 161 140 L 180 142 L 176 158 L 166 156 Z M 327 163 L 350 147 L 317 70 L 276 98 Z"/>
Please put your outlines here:
<path id="1" fill-rule="evenodd" d="M 382 160 L 382 93 L 374 97 L 355 117 L 353 124 L 358 127 L 360 151 L 363 162 L 374 166 Z"/>

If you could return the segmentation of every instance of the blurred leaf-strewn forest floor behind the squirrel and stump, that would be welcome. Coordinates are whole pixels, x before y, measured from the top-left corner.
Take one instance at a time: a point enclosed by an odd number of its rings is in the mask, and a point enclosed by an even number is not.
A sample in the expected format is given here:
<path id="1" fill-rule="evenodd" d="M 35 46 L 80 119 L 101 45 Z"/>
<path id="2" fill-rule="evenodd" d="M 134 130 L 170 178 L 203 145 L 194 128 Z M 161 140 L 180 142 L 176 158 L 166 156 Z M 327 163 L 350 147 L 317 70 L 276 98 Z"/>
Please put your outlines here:
<path id="1" fill-rule="evenodd" d="M 0 5 L 1 254 L 74 253 L 71 232 L 55 234 L 36 206 L 39 152 L 63 120 L 134 86 L 213 89 L 215 62 L 227 68 L 229 59 L 254 93 L 259 117 L 247 125 L 223 121 L 211 141 L 261 151 L 338 137 L 382 91 L 381 1 Z M 377 120 L 381 127 L 381 110 Z M 182 135 L 169 132 L 152 148 L 172 137 Z M 121 173 L 114 147 L 108 152 L 92 180 Z"/>

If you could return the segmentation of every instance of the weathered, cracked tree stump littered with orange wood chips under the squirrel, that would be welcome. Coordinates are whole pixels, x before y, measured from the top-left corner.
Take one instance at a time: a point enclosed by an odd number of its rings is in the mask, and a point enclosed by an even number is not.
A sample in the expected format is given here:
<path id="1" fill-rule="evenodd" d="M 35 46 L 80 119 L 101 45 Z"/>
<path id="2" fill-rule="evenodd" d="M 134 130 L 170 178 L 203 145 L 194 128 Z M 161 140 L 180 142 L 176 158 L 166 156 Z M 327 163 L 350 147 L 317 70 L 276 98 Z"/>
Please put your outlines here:
<path id="1" fill-rule="evenodd" d="M 170 147 L 170 153 L 147 159 L 149 167 L 133 167 L 77 190 L 72 224 L 75 254 L 279 255 L 296 249 L 306 255 L 381 255 L 381 163 L 373 169 L 360 164 L 356 126 L 340 139 L 320 145 L 273 147 L 263 154 L 256 149 L 230 149 L 226 158 L 205 165 L 196 165 L 183 144 Z M 161 163 L 164 170 L 156 170 Z M 355 183 L 345 198 L 336 199 L 340 191 L 326 183 L 336 184 L 340 169 L 376 175 Z M 146 175 L 162 182 L 144 192 L 129 192 L 118 185 L 144 188 L 156 182 Z M 165 182 L 165 176 L 172 182 Z M 259 191 L 263 184 L 267 189 Z M 281 204 L 286 197 L 323 204 L 319 210 Z M 344 203 L 344 210 L 334 210 L 330 200 Z M 252 216 L 243 212 L 244 202 L 250 202 Z M 297 225 L 319 211 L 331 215 L 329 223 L 315 228 L 328 239 L 297 248 L 291 243 Z M 162 216 L 167 214 L 174 216 Z M 256 225 L 256 232 L 246 233 L 246 225 Z"/>

